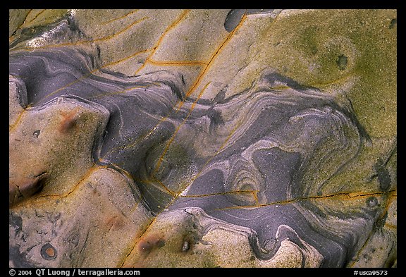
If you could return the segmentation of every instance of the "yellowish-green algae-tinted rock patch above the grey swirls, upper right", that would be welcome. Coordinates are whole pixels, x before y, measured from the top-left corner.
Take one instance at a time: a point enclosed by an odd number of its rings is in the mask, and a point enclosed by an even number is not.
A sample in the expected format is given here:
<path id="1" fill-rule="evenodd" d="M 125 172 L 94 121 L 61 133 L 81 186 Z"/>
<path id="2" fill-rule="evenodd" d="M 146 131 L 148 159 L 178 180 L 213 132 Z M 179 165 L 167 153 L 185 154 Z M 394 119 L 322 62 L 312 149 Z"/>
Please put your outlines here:
<path id="1" fill-rule="evenodd" d="M 393 136 L 395 18 L 393 10 L 283 12 L 252 47 L 255 68 L 266 63 L 303 85 L 333 93 L 332 84 L 350 81 L 345 93 L 369 135 Z"/>

